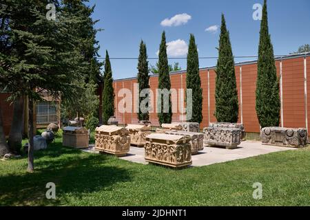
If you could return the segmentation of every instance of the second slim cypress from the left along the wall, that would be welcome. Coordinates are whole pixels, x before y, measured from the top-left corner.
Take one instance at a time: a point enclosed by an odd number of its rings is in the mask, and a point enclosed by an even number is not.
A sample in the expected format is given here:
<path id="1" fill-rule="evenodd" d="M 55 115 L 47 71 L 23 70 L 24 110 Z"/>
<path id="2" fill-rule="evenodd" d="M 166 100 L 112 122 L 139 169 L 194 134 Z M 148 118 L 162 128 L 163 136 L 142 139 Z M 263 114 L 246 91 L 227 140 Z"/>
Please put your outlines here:
<path id="1" fill-rule="evenodd" d="M 139 84 L 139 94 L 143 89 L 149 89 L 149 62 L 147 61 L 147 48 L 143 41 L 140 43 L 140 54 L 138 58 L 138 84 Z M 149 98 L 147 96 L 147 98 Z M 149 112 L 142 112 L 140 108 L 140 103 L 142 100 L 147 98 L 143 98 L 139 96 L 139 112 L 138 112 L 138 120 L 149 120 Z M 148 107 L 148 106 L 146 106 Z"/>

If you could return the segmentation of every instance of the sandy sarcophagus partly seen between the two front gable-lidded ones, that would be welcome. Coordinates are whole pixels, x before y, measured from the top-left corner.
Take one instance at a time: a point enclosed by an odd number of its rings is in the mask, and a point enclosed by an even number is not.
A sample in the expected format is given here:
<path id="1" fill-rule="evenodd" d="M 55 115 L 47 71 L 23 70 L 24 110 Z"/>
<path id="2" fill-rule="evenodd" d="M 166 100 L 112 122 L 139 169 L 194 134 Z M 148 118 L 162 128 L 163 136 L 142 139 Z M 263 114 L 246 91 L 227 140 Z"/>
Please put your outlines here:
<path id="1" fill-rule="evenodd" d="M 146 136 L 151 134 L 151 127 L 145 124 L 128 124 L 126 129 L 129 131 L 130 144 L 143 147 Z"/>

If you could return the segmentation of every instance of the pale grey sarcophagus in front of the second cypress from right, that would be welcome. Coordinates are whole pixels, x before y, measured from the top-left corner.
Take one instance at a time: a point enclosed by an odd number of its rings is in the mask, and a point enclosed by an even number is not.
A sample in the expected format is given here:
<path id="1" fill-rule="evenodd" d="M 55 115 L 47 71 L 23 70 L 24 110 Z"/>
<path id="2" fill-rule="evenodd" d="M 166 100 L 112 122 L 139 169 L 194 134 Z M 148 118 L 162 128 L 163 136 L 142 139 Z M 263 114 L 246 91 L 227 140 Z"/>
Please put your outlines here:
<path id="1" fill-rule="evenodd" d="M 225 146 L 227 149 L 237 148 L 240 144 L 241 129 L 212 127 L 204 129 L 204 144 L 209 146 Z"/>

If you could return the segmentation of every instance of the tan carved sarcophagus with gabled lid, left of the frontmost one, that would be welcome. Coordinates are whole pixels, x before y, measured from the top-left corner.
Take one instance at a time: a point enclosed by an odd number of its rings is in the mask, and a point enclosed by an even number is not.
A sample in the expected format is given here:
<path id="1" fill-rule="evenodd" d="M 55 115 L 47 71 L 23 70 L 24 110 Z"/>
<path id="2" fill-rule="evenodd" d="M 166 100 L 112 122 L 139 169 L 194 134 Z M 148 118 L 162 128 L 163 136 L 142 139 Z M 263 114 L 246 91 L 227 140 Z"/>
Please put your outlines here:
<path id="1" fill-rule="evenodd" d="M 130 151 L 130 135 L 127 129 L 116 125 L 97 127 L 95 149 L 114 154 L 116 157 L 125 156 Z"/>

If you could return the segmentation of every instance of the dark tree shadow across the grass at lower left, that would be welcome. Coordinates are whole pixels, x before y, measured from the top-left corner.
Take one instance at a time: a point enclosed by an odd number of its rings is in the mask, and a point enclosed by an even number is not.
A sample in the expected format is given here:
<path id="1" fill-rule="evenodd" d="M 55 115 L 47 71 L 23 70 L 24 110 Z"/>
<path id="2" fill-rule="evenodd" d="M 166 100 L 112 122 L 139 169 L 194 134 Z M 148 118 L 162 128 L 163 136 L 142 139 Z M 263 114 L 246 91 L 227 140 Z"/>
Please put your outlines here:
<path id="1" fill-rule="evenodd" d="M 0 206 L 63 205 L 67 204 L 62 199 L 65 195 L 82 199 L 83 193 L 109 190 L 118 182 L 130 181 L 130 171 L 112 166 L 113 160 L 105 155 L 39 160 L 34 173 L 1 176 Z M 56 199 L 45 197 L 49 182 L 56 185 Z"/>

